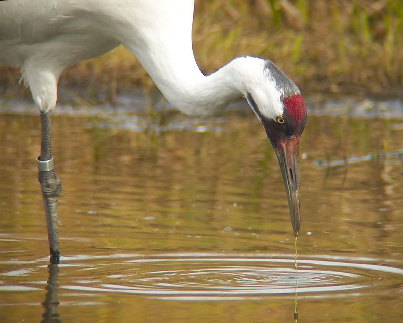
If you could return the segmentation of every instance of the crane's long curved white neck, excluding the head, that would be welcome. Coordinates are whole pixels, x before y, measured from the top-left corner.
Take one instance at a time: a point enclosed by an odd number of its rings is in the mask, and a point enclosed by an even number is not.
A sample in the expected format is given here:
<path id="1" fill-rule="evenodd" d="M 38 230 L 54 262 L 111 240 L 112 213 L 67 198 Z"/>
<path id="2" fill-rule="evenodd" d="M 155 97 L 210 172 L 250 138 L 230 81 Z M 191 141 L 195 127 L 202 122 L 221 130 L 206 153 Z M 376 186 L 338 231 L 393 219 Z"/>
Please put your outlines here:
<path id="1" fill-rule="evenodd" d="M 192 1 L 143 5 L 148 10 L 142 15 L 124 17 L 120 42 L 139 60 L 170 103 L 186 115 L 207 117 L 224 111 L 243 95 L 231 63 L 210 76 L 203 75 L 197 66 L 191 39 Z M 168 10 L 177 14 L 166 15 Z M 152 17 L 147 16 L 148 12 Z"/>

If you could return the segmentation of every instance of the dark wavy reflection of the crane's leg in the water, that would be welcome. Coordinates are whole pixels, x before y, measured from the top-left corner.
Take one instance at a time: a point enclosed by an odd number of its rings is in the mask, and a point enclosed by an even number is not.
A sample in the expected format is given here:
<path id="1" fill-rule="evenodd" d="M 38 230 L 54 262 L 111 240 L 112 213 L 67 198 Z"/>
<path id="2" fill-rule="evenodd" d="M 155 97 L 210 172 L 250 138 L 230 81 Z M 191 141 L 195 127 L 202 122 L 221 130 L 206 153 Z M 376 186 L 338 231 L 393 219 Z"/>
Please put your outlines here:
<path id="1" fill-rule="evenodd" d="M 49 268 L 49 280 L 46 286 L 46 296 L 45 301 L 42 303 L 45 312 L 42 314 L 42 323 L 58 323 L 61 322 L 60 314 L 58 313 L 59 301 L 58 287 L 59 283 L 57 281 L 59 275 L 59 265 L 57 263 L 51 263 L 47 266 Z"/>

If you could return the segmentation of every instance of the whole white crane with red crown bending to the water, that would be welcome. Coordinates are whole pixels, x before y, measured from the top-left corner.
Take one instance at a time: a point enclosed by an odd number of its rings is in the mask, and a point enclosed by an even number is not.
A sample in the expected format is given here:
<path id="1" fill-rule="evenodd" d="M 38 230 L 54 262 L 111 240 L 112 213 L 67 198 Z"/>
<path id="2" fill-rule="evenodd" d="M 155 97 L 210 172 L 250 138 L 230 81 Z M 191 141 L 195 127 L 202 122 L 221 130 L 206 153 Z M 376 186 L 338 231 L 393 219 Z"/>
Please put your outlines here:
<path id="1" fill-rule="evenodd" d="M 192 49 L 194 0 L 0 1 L 0 64 L 20 68 L 40 110 L 39 180 L 51 261 L 59 259 L 57 199 L 50 111 L 57 83 L 69 66 L 122 44 L 139 60 L 163 95 L 188 116 L 223 112 L 245 97 L 262 122 L 279 160 L 294 235 L 300 228 L 298 148 L 306 108 L 298 87 L 271 61 L 236 58 L 205 76 Z"/>

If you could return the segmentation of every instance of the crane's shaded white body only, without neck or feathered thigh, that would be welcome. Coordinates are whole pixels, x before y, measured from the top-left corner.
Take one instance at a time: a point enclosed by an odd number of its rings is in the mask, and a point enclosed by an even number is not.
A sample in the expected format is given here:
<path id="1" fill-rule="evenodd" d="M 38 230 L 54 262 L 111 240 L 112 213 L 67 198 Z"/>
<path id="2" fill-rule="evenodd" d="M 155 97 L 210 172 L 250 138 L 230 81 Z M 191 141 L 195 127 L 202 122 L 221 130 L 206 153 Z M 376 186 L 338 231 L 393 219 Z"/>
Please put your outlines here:
<path id="1" fill-rule="evenodd" d="M 61 73 L 78 61 L 116 47 L 119 43 L 102 33 L 104 25 L 96 27 L 97 15 L 83 4 L 66 0 L 0 1 L 0 63 L 19 67 L 31 59 L 38 66 Z"/>

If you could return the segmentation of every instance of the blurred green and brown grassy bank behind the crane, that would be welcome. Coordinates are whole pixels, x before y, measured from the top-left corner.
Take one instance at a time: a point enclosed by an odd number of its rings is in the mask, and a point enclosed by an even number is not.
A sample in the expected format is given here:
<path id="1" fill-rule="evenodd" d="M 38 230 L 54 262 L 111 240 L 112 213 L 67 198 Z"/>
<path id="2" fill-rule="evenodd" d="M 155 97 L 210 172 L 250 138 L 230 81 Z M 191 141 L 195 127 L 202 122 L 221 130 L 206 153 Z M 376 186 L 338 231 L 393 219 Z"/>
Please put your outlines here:
<path id="1" fill-rule="evenodd" d="M 403 96 L 401 0 L 196 0 L 193 47 L 205 74 L 251 55 L 271 59 L 304 93 Z M 0 67 L 6 92 L 18 80 L 17 70 Z M 153 83 L 122 46 L 75 64 L 59 83 L 110 97 L 134 85 Z"/>

